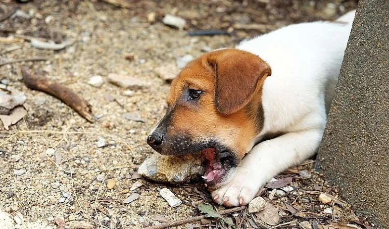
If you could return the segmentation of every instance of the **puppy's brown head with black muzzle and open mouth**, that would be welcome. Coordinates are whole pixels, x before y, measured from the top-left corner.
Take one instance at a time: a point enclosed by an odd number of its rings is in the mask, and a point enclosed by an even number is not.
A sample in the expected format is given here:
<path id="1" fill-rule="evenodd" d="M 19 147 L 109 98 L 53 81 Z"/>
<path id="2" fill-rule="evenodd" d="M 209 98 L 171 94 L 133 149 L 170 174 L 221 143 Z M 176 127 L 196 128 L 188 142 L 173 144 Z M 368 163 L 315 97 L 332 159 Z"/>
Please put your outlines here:
<path id="1" fill-rule="evenodd" d="M 173 80 L 166 115 L 148 144 L 166 155 L 203 152 L 210 186 L 229 180 L 263 125 L 261 91 L 270 67 L 238 49 L 209 52 Z"/>

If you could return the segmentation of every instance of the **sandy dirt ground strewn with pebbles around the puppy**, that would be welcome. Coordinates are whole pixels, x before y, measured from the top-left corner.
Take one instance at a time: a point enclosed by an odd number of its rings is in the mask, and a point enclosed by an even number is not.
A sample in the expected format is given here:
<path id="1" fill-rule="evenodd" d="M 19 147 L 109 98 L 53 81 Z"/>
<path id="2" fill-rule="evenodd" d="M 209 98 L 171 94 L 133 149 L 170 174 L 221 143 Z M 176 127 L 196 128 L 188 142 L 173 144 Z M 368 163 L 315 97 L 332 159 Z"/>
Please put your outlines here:
<path id="1" fill-rule="evenodd" d="M 201 215 L 197 204 L 213 204 L 201 183 L 167 186 L 136 178 L 138 165 L 153 153 L 145 139 L 164 115 L 169 90 L 169 84 L 154 69 L 175 65 L 176 59 L 185 54 L 196 57 L 208 48 L 233 47 L 239 40 L 287 24 L 333 20 L 356 7 L 356 1 L 127 2 L 130 8 L 91 0 L 34 0 L 26 4 L 0 0 L 3 10 L 4 6 L 9 10 L 19 8 L 29 16 L 1 22 L 0 36 L 9 40 L 0 40 L 0 63 L 35 56 L 47 58 L 0 67 L 2 83 L 27 96 L 24 107 L 28 111 L 10 130 L 0 126 L 2 228 L 63 228 L 59 225 L 62 220 L 65 228 L 141 228 Z M 153 12 L 155 22 L 150 21 Z M 164 25 L 161 21 L 165 14 L 184 18 L 186 28 Z M 221 29 L 230 35 L 187 35 L 188 31 L 209 29 Z M 32 47 L 31 37 L 74 42 L 62 50 L 45 50 Z M 23 66 L 31 72 L 44 72 L 85 98 L 92 105 L 96 122 L 88 123 L 58 99 L 28 89 L 21 82 Z M 110 73 L 136 77 L 145 86 L 116 86 L 108 82 Z M 100 88 L 87 83 L 95 75 L 105 81 Z M 128 113 L 142 122 L 128 120 Z M 106 141 L 106 145 L 98 147 L 99 140 Z M 313 167 L 309 160 L 277 177 L 293 178 L 289 187 L 296 192 L 282 194 L 279 189 L 264 188 L 259 193 L 278 207 L 281 225 L 277 227 L 325 228 L 332 223 L 333 228 L 354 228 L 344 225 L 352 223 L 356 228 L 370 228 L 362 226 L 364 218 L 356 217 L 347 203 L 336 198 L 337 188 L 329 186 Z M 108 179 L 115 181 L 113 189 L 107 189 Z M 136 180 L 143 186 L 128 192 L 126 189 Z M 164 187 L 183 204 L 170 207 L 158 194 Z M 333 197 L 331 203 L 318 201 L 321 192 Z M 124 204 L 123 200 L 134 193 L 139 198 Z M 24 222 L 18 223 L 21 216 Z M 225 217 L 235 224 L 230 227 L 274 228 L 247 210 Z M 178 226 L 195 227 L 227 225 L 211 219 Z"/>

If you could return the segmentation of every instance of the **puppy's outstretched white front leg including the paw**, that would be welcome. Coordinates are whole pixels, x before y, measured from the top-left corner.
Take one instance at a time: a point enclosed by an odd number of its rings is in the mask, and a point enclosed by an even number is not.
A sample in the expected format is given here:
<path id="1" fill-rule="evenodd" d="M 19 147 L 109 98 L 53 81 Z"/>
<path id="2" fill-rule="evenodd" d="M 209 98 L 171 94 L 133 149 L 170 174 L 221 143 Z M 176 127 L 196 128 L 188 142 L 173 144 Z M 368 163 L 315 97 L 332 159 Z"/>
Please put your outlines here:
<path id="1" fill-rule="evenodd" d="M 269 179 L 313 155 L 322 135 L 323 129 L 311 129 L 261 142 L 240 162 L 232 180 L 212 192 L 213 200 L 225 206 L 248 204 Z"/>

